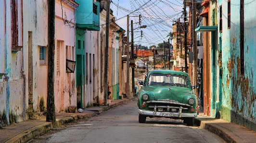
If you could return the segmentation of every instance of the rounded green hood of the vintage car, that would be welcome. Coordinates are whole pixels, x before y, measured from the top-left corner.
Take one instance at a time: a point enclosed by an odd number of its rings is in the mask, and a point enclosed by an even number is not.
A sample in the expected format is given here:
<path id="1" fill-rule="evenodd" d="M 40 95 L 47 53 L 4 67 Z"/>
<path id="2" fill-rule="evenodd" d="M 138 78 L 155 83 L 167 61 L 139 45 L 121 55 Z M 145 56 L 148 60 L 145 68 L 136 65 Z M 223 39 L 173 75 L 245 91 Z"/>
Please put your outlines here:
<path id="1" fill-rule="evenodd" d="M 168 99 L 176 100 L 179 103 L 182 103 L 184 96 L 193 93 L 190 88 L 175 86 L 149 86 L 146 90 L 154 94 L 154 100 Z"/>

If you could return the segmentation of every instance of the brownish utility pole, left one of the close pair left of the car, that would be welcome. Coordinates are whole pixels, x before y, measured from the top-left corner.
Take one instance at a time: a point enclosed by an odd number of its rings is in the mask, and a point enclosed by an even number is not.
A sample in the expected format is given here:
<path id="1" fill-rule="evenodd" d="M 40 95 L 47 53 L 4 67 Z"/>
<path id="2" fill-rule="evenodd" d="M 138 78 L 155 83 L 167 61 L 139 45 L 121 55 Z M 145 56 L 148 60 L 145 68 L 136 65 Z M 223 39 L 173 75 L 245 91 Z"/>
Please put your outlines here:
<path id="1" fill-rule="evenodd" d="M 129 15 L 127 15 L 127 52 L 126 52 L 126 95 L 130 98 L 130 58 L 129 58 Z"/>

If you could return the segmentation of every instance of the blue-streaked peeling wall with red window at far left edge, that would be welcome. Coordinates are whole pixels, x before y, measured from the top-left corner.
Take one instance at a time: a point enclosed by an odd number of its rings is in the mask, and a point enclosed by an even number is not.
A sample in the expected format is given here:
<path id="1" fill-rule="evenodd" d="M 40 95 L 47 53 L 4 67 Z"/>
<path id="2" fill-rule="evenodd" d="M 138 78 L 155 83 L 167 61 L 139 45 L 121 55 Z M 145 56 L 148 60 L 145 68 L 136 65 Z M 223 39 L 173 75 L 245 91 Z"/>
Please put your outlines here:
<path id="1" fill-rule="evenodd" d="M 15 7 L 15 11 L 14 10 Z M 13 8 L 13 9 L 12 9 Z M 0 126 L 26 119 L 24 106 L 23 48 L 14 51 L 13 47 L 22 47 L 22 0 L 0 1 Z M 12 14 L 17 19 L 12 19 Z M 16 34 L 12 34 L 12 22 L 15 21 Z M 16 39 L 12 39 L 15 37 Z M 15 44 L 13 44 L 15 43 Z M 3 73 L 6 73 L 3 75 Z"/>

